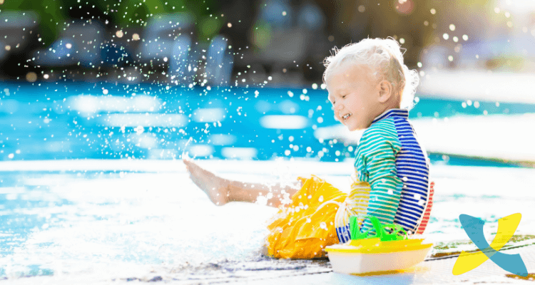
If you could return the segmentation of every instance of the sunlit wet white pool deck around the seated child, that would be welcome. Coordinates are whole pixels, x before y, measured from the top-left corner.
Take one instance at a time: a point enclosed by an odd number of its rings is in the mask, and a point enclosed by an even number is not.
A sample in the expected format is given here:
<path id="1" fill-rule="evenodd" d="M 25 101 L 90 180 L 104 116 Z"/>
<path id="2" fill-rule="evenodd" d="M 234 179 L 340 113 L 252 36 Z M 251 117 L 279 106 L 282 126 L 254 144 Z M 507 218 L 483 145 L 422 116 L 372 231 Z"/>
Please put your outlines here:
<path id="1" fill-rule="evenodd" d="M 347 190 L 347 176 L 352 171 L 351 162 L 205 160 L 200 164 L 225 177 L 246 182 L 289 182 L 297 175 L 313 173 L 342 190 Z M 333 273 L 327 260 L 262 257 L 260 252 L 255 252 L 256 243 L 260 241 L 258 236 L 263 233 L 261 222 L 270 217 L 274 209 L 246 203 L 211 205 L 187 179 L 180 161 L 14 161 L 0 162 L 0 172 L 4 177 L 3 193 L 18 193 L 12 194 L 12 198 L 16 198 L 12 201 L 25 196 L 41 199 L 39 195 L 65 200 L 68 203 L 63 206 L 41 210 L 61 213 L 71 224 L 63 227 L 51 223 L 46 229 L 32 232 L 0 260 L 0 263 L 9 261 L 23 266 L 43 264 L 54 271 L 52 276 L 19 278 L 14 275 L 15 269 L 6 268 L 4 284 L 137 284 L 149 281 L 162 284 L 526 284 L 526 281 L 505 277 L 506 271 L 491 261 L 461 276 L 452 275 L 455 258 L 424 261 L 403 274 L 350 276 Z M 105 173 L 93 175 L 99 172 Z M 456 220 L 459 213 L 484 218 L 489 223 L 485 226 L 486 237 L 490 238 L 491 232 L 495 232 L 496 219 L 521 212 L 523 216 L 516 233 L 535 234 L 532 207 L 535 194 L 531 191 L 535 183 L 534 169 L 433 165 L 432 174 L 437 182 L 432 213 L 435 219 L 426 234 L 435 244 L 467 241 Z M 16 177 L 12 182 L 15 187 L 8 187 L 5 177 Z M 91 193 L 91 196 L 84 196 L 84 193 Z M 24 199 L 21 201 L 26 203 Z M 21 205 L 21 209 L 11 211 L 34 210 Z M 212 236 L 219 234 L 219 247 L 206 244 L 210 239 L 183 244 L 188 241 L 187 237 L 180 236 L 184 232 L 169 229 L 170 224 L 182 224 L 185 228 L 194 225 L 180 217 L 195 209 L 193 206 L 206 207 L 208 211 L 204 215 L 196 213 L 196 222 L 226 223 L 225 227 L 219 225 L 204 232 Z M 9 212 L 9 209 L 4 211 Z M 250 217 L 243 217 L 243 211 L 249 211 Z M 123 216 L 116 215 L 117 212 Z M 96 219 L 95 214 L 106 219 Z M 146 218 L 149 216 L 153 217 Z M 125 224 L 125 219 L 133 223 Z M 90 227 L 91 231 L 83 227 Z M 252 239 L 258 241 L 251 242 Z M 43 242 L 52 244 L 40 245 Z M 121 252 L 122 247 L 128 248 Z M 229 252 L 218 252 L 226 247 L 231 247 Z M 238 252 L 240 250 L 244 253 Z M 121 261 L 115 255 L 131 252 L 148 257 Z M 521 254 L 529 272 L 535 271 L 534 245 L 504 252 Z M 198 261 L 193 261 L 195 259 Z M 166 262 L 156 263 L 156 260 Z"/>

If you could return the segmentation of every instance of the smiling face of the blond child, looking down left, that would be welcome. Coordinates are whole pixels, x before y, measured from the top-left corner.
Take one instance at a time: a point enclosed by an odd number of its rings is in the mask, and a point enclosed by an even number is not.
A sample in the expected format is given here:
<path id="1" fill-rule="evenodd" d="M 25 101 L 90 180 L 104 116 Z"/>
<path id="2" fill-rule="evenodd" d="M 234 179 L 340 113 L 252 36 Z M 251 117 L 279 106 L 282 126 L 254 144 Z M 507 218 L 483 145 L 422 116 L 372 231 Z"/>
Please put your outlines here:
<path id="1" fill-rule="evenodd" d="M 326 81 L 335 118 L 348 130 L 368 128 L 381 114 L 377 100 L 379 90 L 370 72 L 367 66 L 342 64 Z"/>

